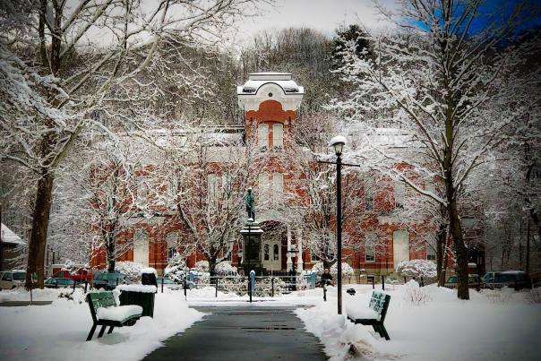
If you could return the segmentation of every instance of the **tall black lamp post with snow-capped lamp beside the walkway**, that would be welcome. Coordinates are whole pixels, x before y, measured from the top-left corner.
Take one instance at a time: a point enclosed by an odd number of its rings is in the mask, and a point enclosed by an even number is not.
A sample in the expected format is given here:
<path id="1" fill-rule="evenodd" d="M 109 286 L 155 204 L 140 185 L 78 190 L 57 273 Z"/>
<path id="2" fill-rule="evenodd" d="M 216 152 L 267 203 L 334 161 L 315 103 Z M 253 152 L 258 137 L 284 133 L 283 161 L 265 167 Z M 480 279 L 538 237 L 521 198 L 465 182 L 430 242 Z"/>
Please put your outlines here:
<path id="1" fill-rule="evenodd" d="M 336 153 L 336 241 L 338 258 L 338 314 L 342 314 L 342 150 L 346 138 L 337 135 L 331 139 L 330 145 Z"/>

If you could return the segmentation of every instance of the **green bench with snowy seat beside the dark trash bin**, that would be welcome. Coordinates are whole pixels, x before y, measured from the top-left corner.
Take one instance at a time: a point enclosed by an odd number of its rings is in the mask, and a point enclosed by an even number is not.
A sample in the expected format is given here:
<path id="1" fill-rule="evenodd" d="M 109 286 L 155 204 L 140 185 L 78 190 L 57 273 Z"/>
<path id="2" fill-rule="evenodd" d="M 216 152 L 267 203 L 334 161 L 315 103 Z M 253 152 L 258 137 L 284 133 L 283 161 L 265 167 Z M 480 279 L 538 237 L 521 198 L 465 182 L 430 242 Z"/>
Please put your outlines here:
<path id="1" fill-rule="evenodd" d="M 92 340 L 96 326 L 100 325 L 98 337 L 103 336 L 105 328 L 109 326 L 111 333 L 115 327 L 133 326 L 141 317 L 140 305 L 116 305 L 113 292 L 92 292 L 87 295 L 87 301 L 92 315 L 92 328 L 87 341 Z"/>

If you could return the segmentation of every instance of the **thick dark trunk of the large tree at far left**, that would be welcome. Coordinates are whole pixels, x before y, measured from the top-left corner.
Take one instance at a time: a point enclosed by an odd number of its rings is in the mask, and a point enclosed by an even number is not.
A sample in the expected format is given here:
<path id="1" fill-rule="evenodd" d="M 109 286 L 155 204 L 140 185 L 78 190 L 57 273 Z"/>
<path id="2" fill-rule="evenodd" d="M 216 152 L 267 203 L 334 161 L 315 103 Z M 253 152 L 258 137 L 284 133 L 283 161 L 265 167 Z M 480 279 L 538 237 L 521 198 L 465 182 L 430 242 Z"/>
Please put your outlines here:
<path id="1" fill-rule="evenodd" d="M 36 203 L 32 215 L 32 230 L 26 268 L 26 288 L 43 288 L 45 248 L 47 246 L 47 228 L 51 211 L 54 176 L 48 168 L 42 168 L 36 191 Z M 35 282 L 32 274 L 36 274 Z"/>

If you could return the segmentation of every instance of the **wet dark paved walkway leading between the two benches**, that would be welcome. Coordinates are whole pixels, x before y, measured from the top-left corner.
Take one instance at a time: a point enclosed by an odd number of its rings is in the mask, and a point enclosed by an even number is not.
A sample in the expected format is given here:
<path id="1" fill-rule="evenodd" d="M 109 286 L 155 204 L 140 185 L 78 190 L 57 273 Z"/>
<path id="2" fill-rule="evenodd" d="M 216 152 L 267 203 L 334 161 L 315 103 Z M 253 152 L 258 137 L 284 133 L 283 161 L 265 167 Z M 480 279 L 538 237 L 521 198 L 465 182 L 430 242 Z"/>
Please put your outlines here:
<path id="1" fill-rule="evenodd" d="M 211 313 L 146 361 L 326 360 L 319 340 L 304 329 L 290 307 L 195 307 Z"/>

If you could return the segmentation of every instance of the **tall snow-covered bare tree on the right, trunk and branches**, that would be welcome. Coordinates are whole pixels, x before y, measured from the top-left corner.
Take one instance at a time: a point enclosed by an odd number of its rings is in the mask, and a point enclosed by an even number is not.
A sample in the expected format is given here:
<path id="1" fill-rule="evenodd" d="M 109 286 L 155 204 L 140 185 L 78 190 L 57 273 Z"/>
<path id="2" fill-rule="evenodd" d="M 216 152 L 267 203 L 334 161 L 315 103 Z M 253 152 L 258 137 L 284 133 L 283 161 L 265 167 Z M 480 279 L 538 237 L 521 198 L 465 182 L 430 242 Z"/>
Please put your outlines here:
<path id="1" fill-rule="evenodd" d="M 460 299 L 469 298 L 468 245 L 460 224 L 463 190 L 472 172 L 491 161 L 490 151 L 512 133 L 515 120 L 538 101 L 535 97 L 494 112 L 502 101 L 520 99 L 528 88 L 525 82 L 538 79 L 539 69 L 534 68 L 527 78 L 513 75 L 524 56 L 537 51 L 537 37 L 513 39 L 524 4 L 505 13 L 504 19 L 493 13 L 494 21 L 478 28 L 481 5 L 481 1 L 404 1 L 397 14 L 399 34 L 368 35 L 374 56 L 359 56 L 350 44 L 347 64 L 340 70 L 344 80 L 356 85 L 350 99 L 339 104 L 350 123 L 357 129 L 374 129 L 382 123 L 401 128 L 416 159 L 401 154 L 391 158 L 441 179 L 442 196 L 422 189 L 396 169 L 396 176 L 417 193 L 446 208 Z"/>

